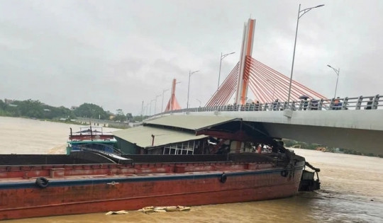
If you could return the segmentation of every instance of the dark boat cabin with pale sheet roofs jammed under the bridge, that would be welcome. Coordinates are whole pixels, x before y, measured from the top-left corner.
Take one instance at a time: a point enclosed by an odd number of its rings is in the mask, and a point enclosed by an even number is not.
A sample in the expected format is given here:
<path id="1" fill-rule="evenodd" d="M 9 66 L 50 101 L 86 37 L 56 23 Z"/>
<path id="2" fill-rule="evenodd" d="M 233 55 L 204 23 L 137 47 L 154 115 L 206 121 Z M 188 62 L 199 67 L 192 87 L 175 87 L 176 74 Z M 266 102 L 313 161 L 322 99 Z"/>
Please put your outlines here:
<path id="1" fill-rule="evenodd" d="M 275 148 L 261 124 L 239 118 L 170 115 L 113 132 L 123 154 L 228 154 Z"/>

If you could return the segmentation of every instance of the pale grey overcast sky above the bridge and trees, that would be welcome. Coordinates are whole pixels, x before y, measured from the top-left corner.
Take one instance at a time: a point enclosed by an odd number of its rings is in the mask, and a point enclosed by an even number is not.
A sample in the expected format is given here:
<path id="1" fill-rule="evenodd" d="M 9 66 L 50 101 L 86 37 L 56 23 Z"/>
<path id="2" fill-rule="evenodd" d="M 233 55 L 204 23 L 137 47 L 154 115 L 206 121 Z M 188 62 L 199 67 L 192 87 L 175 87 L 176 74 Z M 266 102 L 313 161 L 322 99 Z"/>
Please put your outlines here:
<path id="1" fill-rule="evenodd" d="M 289 76 L 300 1 L 0 1 L 0 98 L 94 103 L 152 113 L 177 84 L 189 107 L 206 103 L 239 60 L 243 24 L 256 19 L 252 57 Z M 295 81 L 332 98 L 382 93 L 383 1 L 301 1 Z M 165 92 L 164 108 L 170 98 Z"/>

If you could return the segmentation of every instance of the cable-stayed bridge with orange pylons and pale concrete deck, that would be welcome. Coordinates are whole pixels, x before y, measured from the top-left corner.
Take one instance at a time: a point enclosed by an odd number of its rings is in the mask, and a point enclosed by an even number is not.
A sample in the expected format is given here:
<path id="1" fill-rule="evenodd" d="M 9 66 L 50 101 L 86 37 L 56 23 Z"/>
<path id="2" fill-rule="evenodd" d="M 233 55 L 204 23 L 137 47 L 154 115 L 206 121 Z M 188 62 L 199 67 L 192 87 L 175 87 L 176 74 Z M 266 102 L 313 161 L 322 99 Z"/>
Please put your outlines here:
<path id="1" fill-rule="evenodd" d="M 243 32 L 240 62 L 204 107 L 181 109 L 175 98 L 174 80 L 167 109 L 152 118 L 163 115 L 238 118 L 256 126 L 267 137 L 383 154 L 382 96 L 326 98 L 253 59 L 254 30 L 255 20 L 249 19 Z M 252 100 L 248 98 L 249 90 Z"/>

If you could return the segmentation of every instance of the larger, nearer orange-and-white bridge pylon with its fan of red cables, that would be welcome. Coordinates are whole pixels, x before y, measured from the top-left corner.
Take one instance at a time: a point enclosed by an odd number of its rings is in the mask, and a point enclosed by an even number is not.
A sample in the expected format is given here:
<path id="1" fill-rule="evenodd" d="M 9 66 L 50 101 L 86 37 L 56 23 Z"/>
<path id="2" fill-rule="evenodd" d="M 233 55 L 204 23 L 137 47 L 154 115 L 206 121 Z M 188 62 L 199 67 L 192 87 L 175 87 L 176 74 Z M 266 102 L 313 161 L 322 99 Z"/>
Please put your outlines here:
<path id="1" fill-rule="evenodd" d="M 232 99 L 237 105 L 243 105 L 248 102 L 249 88 L 254 103 L 287 101 L 289 77 L 252 58 L 254 33 L 255 19 L 249 18 L 243 29 L 240 61 L 206 103 L 206 107 L 228 105 Z M 303 98 L 302 96 L 307 100 L 326 99 L 321 93 L 317 93 L 293 80 L 291 88 L 292 100 L 299 101 L 300 98 Z"/>

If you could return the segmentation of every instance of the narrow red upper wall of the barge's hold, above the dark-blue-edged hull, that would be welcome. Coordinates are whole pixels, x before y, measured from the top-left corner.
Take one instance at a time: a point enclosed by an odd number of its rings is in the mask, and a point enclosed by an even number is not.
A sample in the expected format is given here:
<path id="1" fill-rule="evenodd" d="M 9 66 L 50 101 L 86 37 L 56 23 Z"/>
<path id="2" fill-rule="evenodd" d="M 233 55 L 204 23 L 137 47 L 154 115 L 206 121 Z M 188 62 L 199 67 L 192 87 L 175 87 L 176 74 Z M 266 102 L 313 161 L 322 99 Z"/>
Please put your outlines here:
<path id="1" fill-rule="evenodd" d="M 260 168 L 270 168 L 274 165 L 263 162 L 254 163 Z M 100 175 L 124 175 L 140 173 L 177 173 L 175 169 L 184 169 L 183 172 L 205 171 L 240 171 L 248 169 L 246 163 L 237 162 L 211 162 L 211 163 L 164 163 L 164 164 L 81 164 L 81 165 L 31 165 L 31 166 L 0 166 L 0 179 L 33 178 L 45 176 L 51 178 Z M 52 177 L 54 176 L 54 177 Z M 1 181 L 0 181 L 1 183 Z"/>

